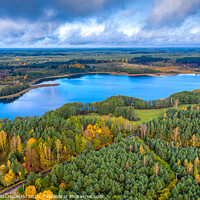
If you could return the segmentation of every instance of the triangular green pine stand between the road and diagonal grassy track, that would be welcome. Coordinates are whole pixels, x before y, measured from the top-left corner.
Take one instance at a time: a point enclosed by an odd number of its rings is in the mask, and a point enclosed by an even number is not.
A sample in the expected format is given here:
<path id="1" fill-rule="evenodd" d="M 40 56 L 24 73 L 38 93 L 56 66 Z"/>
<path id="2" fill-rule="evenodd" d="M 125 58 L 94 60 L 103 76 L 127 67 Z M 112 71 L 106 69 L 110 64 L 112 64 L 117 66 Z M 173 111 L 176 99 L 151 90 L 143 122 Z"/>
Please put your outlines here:
<path id="1" fill-rule="evenodd" d="M 155 199 L 173 178 L 167 164 L 159 162 L 138 138 L 134 138 L 99 151 L 85 151 L 67 165 L 56 165 L 45 177 L 45 187 L 42 184 L 44 178 L 35 176 L 28 182 L 30 186 L 26 190 L 35 187 L 38 196 L 42 196 L 44 189 L 54 190 L 54 193 L 72 199 L 76 195 L 102 199 Z"/>

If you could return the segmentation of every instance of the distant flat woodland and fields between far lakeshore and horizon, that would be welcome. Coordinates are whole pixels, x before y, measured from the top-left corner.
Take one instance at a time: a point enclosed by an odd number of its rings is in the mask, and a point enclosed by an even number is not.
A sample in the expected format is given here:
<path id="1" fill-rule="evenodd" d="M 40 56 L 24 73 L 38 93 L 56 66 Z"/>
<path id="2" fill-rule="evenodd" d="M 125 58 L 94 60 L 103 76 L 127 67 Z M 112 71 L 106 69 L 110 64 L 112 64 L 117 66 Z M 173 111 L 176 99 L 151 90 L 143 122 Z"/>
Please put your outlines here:
<path id="1" fill-rule="evenodd" d="M 1 50 L 0 97 L 16 94 L 38 80 L 70 74 L 199 73 L 198 55 L 198 49 Z"/>

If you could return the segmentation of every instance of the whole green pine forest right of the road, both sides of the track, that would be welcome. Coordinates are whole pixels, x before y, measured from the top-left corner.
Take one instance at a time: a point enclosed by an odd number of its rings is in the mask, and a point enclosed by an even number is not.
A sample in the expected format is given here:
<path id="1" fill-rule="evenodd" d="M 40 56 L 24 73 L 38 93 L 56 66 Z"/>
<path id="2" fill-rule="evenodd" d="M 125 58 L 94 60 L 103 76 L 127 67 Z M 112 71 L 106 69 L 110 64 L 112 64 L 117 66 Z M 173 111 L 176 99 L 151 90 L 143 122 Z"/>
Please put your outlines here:
<path id="1" fill-rule="evenodd" d="M 131 132 L 139 138 L 118 137 L 99 151 L 92 146 L 85 148 L 69 163 L 55 165 L 45 177 L 30 174 L 25 193 L 28 195 L 32 187 L 39 193 L 38 199 L 43 193 L 71 199 L 77 195 L 100 195 L 103 199 L 199 199 L 199 115 L 198 105 L 180 111 L 171 108 L 158 119 L 134 127 Z M 19 192 L 23 193 L 22 188 Z"/>

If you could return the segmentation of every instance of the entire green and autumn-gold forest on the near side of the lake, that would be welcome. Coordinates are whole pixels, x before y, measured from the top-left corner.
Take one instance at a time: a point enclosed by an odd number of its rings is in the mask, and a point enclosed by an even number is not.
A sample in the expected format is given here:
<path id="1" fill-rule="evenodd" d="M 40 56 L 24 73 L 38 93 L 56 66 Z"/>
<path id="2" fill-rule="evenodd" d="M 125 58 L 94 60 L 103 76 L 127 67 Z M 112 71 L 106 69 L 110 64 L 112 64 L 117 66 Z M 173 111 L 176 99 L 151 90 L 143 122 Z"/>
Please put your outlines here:
<path id="1" fill-rule="evenodd" d="M 164 101 L 113 96 L 68 103 L 42 117 L 1 119 L 0 188 L 27 180 L 17 193 L 35 199 L 198 200 L 198 94 L 181 92 Z M 136 125 L 135 109 L 154 108 L 169 109 Z"/>

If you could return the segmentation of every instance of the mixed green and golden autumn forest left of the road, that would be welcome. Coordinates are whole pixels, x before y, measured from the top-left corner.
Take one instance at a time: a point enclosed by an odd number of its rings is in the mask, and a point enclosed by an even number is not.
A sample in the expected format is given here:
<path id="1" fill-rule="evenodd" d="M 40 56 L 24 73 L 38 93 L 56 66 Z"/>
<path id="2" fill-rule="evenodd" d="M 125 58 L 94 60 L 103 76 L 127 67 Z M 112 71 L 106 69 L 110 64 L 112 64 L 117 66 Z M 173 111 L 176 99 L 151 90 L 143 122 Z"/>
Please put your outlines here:
<path id="1" fill-rule="evenodd" d="M 65 162 L 84 150 L 120 140 L 135 131 L 133 122 L 123 117 L 68 119 L 56 112 L 42 117 L 17 117 L 0 121 L 0 161 L 2 186 L 24 180 L 27 173 L 41 172 Z"/>

